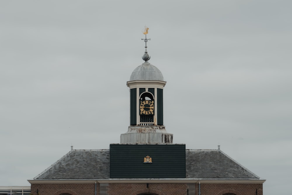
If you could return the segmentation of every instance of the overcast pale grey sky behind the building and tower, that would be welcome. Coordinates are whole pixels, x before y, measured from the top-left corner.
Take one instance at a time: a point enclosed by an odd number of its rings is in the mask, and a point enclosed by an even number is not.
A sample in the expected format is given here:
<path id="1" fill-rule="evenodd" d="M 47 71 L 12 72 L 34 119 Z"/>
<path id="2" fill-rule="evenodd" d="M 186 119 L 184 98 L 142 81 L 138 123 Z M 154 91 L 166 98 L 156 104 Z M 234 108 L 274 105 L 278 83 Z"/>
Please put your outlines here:
<path id="1" fill-rule="evenodd" d="M 126 82 L 149 61 L 167 81 L 175 143 L 221 150 L 290 194 L 291 1 L 1 1 L 0 186 L 70 150 L 107 149 L 129 125 Z"/>

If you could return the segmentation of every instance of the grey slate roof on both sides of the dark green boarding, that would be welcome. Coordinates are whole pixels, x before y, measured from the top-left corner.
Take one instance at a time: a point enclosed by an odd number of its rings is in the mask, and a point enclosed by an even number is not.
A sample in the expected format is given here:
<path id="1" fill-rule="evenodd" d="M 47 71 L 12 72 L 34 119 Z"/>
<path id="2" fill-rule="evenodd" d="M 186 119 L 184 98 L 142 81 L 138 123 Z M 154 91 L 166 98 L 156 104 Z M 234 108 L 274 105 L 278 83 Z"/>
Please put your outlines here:
<path id="1" fill-rule="evenodd" d="M 220 150 L 186 150 L 186 178 L 260 179 Z M 109 179 L 109 150 L 71 150 L 34 179 Z"/>

